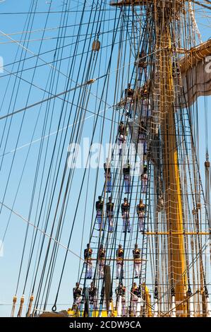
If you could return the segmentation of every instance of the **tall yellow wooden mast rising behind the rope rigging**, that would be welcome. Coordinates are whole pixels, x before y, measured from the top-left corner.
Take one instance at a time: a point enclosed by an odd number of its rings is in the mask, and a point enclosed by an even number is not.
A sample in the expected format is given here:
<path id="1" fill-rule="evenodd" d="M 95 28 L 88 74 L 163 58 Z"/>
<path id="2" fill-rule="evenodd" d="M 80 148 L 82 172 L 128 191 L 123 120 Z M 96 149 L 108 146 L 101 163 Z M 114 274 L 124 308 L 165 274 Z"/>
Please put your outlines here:
<path id="1" fill-rule="evenodd" d="M 169 49 L 164 48 L 169 43 Z M 164 199 L 167 215 L 168 246 L 169 246 L 169 282 L 174 287 L 175 304 L 186 298 L 186 257 L 183 235 L 183 211 L 181 199 L 181 184 L 179 175 L 179 160 L 176 146 L 176 128 L 174 121 L 174 85 L 171 68 L 171 37 L 168 29 L 160 35 L 160 116 L 163 139 L 163 170 Z M 178 232 L 179 234 L 175 234 Z M 172 234 L 174 233 L 174 234 Z M 172 289 L 173 291 L 173 289 Z M 173 293 L 173 292 L 172 292 Z M 176 314 L 186 316 L 187 306 L 183 302 L 176 307 Z"/>

